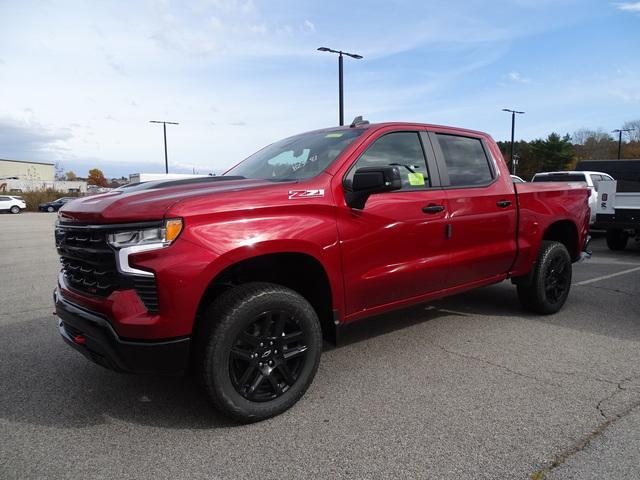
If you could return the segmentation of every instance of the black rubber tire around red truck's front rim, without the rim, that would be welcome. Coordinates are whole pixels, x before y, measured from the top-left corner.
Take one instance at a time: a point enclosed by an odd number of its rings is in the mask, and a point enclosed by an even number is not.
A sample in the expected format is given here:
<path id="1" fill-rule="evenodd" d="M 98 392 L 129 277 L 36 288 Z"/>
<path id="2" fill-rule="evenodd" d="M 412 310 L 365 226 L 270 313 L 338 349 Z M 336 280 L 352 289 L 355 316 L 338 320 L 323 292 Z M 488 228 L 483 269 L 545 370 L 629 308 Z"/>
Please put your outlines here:
<path id="1" fill-rule="evenodd" d="M 299 374 L 284 393 L 272 400 L 252 401 L 238 390 L 237 377 L 235 384 L 232 379 L 232 348 L 245 329 L 269 311 L 286 312 L 287 321 L 303 332 L 307 349 Z M 252 282 L 227 290 L 209 306 L 194 334 L 194 347 L 196 378 L 209 399 L 225 415 L 250 423 L 284 412 L 304 395 L 320 363 L 322 331 L 315 310 L 300 294 L 280 285 Z M 260 373 L 257 367 L 256 373 Z"/>

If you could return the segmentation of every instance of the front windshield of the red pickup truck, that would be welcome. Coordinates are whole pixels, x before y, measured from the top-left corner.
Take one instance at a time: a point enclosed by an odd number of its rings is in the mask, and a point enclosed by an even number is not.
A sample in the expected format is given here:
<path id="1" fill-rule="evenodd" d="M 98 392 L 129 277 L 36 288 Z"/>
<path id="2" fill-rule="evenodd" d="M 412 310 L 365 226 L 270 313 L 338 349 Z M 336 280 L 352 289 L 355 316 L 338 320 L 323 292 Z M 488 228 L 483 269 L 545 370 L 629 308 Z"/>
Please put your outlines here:
<path id="1" fill-rule="evenodd" d="M 273 181 L 315 177 L 363 131 L 361 128 L 325 130 L 285 138 L 254 153 L 224 175 Z"/>

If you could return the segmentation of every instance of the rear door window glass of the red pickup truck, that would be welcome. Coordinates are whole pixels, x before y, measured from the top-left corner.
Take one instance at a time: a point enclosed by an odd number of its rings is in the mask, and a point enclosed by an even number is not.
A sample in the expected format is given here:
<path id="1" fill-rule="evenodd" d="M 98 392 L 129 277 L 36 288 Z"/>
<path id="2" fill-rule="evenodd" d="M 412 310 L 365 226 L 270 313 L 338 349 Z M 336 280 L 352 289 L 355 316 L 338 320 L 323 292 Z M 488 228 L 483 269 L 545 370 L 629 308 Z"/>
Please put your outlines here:
<path id="1" fill-rule="evenodd" d="M 489 159 L 478 138 L 436 134 L 452 187 L 486 185 L 493 180 Z"/>

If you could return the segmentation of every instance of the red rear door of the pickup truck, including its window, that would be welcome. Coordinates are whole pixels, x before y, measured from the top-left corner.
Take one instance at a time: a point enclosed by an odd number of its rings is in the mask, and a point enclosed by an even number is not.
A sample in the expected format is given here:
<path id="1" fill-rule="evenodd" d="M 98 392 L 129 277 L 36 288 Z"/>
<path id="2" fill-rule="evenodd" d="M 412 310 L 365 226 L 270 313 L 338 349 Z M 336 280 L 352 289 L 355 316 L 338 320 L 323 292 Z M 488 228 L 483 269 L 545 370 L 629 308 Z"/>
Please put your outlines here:
<path id="1" fill-rule="evenodd" d="M 506 273 L 516 254 L 516 198 L 482 137 L 430 132 L 447 198 L 449 281 L 456 287 Z"/>

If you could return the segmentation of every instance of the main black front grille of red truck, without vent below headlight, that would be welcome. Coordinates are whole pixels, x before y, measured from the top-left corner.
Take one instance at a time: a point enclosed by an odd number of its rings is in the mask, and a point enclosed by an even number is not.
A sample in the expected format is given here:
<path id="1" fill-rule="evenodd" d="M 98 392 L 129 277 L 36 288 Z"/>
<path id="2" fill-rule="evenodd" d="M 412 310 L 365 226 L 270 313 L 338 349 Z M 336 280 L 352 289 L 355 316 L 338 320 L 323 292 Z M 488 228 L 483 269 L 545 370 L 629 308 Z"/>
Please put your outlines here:
<path id="1" fill-rule="evenodd" d="M 58 226 L 56 248 L 64 277 L 74 290 L 106 297 L 118 288 L 115 252 L 104 230 Z"/>

